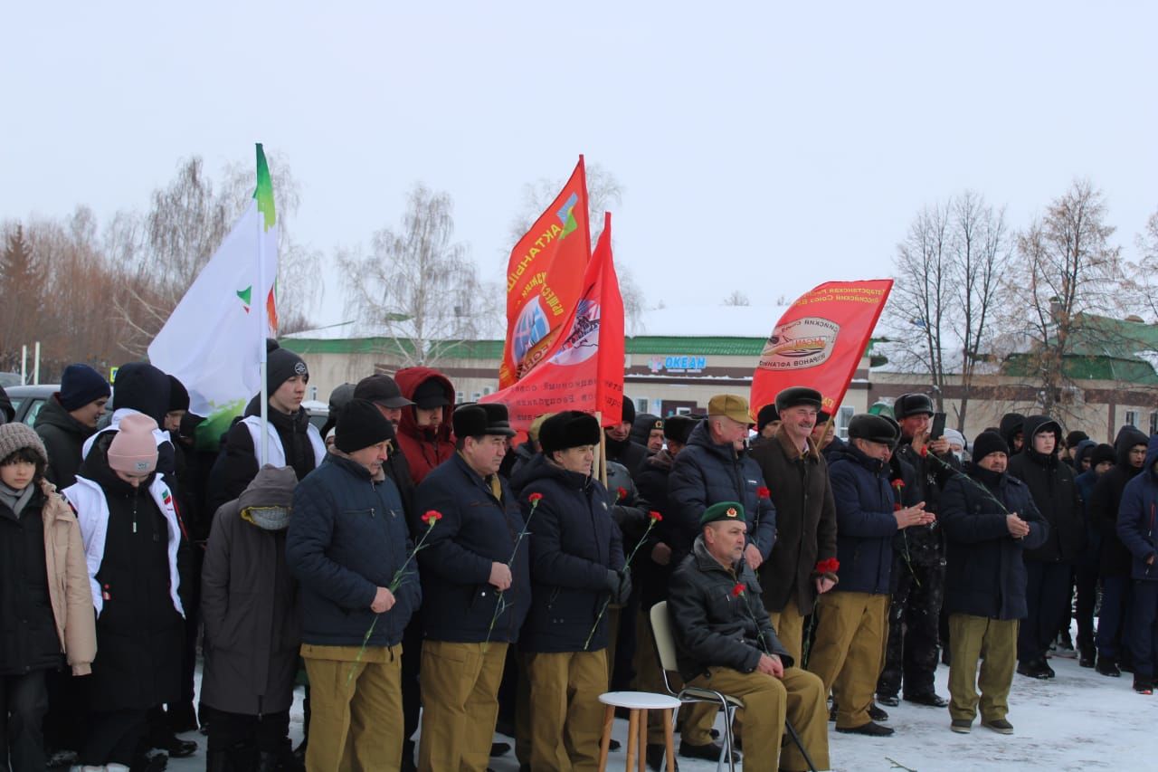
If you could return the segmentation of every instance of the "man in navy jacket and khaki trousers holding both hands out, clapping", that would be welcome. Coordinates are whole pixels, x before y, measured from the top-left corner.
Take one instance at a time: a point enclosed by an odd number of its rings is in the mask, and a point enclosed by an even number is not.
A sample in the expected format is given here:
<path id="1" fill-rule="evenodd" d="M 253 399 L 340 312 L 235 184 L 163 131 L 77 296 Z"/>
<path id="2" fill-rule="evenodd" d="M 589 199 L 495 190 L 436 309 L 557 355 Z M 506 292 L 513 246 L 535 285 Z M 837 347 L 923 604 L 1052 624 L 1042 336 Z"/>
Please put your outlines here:
<path id="1" fill-rule="evenodd" d="M 894 503 L 888 461 L 901 438 L 892 418 L 860 414 L 849 422 L 849 444 L 829 467 L 836 501 L 836 555 L 840 584 L 820 596 L 820 622 L 808 670 L 820 676 L 837 705 L 836 730 L 892 735 L 868 716 L 880 675 L 888 612 L 893 537 L 928 525 L 924 503 Z"/>

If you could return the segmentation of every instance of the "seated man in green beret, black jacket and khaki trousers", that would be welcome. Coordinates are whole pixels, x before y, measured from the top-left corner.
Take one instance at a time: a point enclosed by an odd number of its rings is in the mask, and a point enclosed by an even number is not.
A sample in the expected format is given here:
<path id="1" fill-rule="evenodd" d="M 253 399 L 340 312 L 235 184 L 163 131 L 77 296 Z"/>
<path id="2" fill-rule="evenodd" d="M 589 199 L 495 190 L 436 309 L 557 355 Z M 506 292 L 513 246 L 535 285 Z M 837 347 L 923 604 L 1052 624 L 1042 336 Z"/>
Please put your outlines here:
<path id="1" fill-rule="evenodd" d="M 780 755 L 785 719 L 816 769 L 827 770 L 824 689 L 794 667 L 772 631 L 756 575 L 743 560 L 743 505 L 713 504 L 699 525 L 692 553 L 668 587 L 680 675 L 688 686 L 743 701 L 745 772 L 808 769 L 794 743 Z"/>

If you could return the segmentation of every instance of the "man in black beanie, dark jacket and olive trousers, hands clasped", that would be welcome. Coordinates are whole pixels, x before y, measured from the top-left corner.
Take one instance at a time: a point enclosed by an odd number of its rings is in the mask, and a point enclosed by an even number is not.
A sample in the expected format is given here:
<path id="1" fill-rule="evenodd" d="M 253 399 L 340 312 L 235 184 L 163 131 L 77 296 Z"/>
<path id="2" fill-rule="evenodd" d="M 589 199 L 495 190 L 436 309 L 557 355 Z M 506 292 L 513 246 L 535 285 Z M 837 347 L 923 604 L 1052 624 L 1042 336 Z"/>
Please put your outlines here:
<path id="1" fill-rule="evenodd" d="M 1041 546 L 1049 532 L 1028 488 L 1005 474 L 1007 457 L 1009 445 L 1001 435 L 981 432 L 973 444 L 969 478 L 950 480 L 940 500 L 940 524 L 948 541 L 950 728 L 960 734 L 973 727 L 976 686 L 981 687 L 981 724 L 1013 733 L 1005 716 L 1018 620 L 1026 616 L 1021 553 Z"/>

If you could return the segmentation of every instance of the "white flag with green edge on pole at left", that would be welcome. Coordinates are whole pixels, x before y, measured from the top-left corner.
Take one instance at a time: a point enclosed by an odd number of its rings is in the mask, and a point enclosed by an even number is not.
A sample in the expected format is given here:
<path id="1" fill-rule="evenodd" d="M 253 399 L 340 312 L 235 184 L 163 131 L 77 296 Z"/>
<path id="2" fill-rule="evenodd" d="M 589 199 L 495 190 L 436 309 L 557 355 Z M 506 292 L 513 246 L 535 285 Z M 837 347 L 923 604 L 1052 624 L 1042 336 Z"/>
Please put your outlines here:
<path id="1" fill-rule="evenodd" d="M 261 391 L 265 338 L 277 332 L 277 274 L 273 184 L 258 144 L 254 201 L 148 347 L 149 362 L 189 389 L 189 409 L 208 418 L 198 428 L 199 445 L 204 438 L 215 447 Z"/>

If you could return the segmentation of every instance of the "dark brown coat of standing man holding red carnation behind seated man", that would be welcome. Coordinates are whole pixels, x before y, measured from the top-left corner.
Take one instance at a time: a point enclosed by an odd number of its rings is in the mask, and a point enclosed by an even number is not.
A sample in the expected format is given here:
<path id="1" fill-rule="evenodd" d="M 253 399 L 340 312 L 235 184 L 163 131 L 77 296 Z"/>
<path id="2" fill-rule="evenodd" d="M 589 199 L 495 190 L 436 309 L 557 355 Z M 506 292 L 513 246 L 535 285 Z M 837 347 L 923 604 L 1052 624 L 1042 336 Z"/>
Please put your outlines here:
<path id="1" fill-rule="evenodd" d="M 801 457 L 783 428 L 752 451 L 752 458 L 776 505 L 776 544 L 758 571 L 764 607 L 784 611 L 793 598 L 797 610 L 807 614 L 816 599 L 816 563 L 836 556 L 836 504 L 828 464 L 812 439 Z M 824 576 L 836 580 L 834 574 Z"/>

